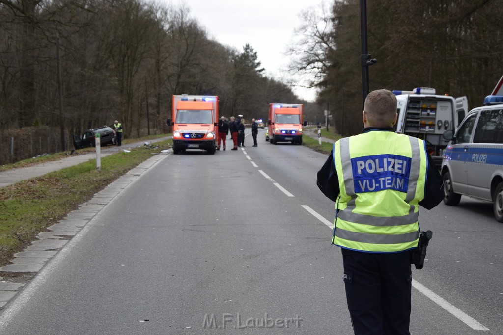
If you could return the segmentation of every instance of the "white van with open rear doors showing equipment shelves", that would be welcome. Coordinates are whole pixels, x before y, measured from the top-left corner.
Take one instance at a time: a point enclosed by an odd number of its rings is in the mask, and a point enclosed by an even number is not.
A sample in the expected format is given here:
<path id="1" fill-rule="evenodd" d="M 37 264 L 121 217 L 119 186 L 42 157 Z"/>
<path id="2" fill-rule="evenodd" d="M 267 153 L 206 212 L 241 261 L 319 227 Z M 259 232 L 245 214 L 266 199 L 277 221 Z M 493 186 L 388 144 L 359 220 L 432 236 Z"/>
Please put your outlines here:
<path id="1" fill-rule="evenodd" d="M 466 96 L 438 95 L 431 87 L 393 93 L 397 100 L 396 132 L 424 140 L 426 150 L 440 168 L 442 152 L 449 142 L 442 134 L 455 131 L 468 113 Z"/>

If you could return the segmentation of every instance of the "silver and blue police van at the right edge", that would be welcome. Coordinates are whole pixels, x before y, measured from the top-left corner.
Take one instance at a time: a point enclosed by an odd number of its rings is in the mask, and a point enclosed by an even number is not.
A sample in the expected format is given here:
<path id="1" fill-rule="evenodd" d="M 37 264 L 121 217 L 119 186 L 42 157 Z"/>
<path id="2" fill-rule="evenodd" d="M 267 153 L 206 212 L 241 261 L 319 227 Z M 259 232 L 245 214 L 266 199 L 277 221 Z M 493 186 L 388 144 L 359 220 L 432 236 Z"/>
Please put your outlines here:
<path id="1" fill-rule="evenodd" d="M 457 205 L 461 195 L 492 201 L 503 222 L 503 96 L 488 95 L 483 107 L 468 113 L 450 140 L 442 160 L 444 203 Z"/>

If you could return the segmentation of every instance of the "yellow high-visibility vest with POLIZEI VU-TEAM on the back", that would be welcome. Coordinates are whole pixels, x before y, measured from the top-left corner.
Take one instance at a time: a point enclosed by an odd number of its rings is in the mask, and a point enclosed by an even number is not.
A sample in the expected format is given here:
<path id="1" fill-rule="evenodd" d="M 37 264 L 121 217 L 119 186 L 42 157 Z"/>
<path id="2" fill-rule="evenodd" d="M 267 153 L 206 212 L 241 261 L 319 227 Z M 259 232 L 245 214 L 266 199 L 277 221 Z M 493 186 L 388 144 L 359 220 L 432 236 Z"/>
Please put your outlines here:
<path id="1" fill-rule="evenodd" d="M 371 131 L 334 144 L 343 178 L 332 243 L 369 252 L 415 248 L 426 158 L 424 141 L 392 132 Z"/>

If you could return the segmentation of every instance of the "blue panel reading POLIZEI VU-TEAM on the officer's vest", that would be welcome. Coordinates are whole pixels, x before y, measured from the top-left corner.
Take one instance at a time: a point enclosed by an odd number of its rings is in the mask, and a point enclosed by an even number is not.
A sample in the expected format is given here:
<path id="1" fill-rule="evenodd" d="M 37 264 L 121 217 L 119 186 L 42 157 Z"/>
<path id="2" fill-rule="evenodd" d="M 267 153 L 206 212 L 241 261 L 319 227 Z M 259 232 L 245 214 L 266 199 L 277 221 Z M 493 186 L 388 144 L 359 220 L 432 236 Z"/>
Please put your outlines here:
<path id="1" fill-rule="evenodd" d="M 355 193 L 392 189 L 407 192 L 410 157 L 383 154 L 351 159 Z"/>

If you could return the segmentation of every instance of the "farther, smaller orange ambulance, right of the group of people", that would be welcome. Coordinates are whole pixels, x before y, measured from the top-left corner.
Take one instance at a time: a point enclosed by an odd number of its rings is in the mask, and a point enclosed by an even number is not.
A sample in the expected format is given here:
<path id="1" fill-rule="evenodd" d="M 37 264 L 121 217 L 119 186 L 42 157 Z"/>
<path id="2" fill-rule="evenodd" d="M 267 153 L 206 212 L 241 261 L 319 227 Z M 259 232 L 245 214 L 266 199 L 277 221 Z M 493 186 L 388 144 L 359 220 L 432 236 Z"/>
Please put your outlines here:
<path id="1" fill-rule="evenodd" d="M 302 104 L 270 103 L 266 141 L 302 144 Z"/>

